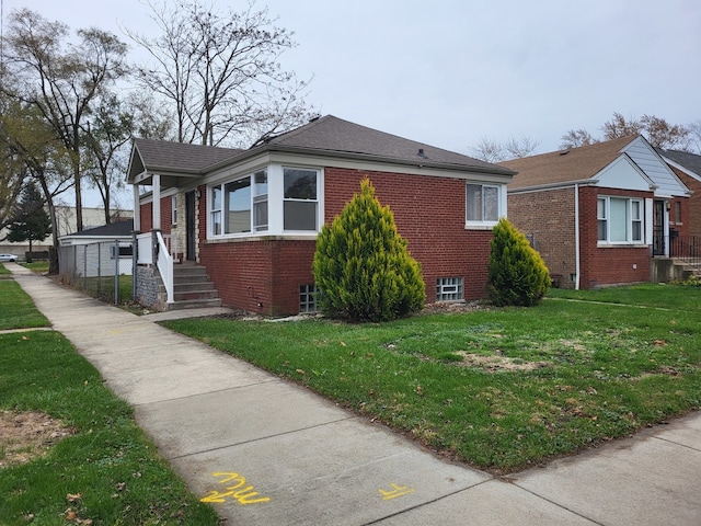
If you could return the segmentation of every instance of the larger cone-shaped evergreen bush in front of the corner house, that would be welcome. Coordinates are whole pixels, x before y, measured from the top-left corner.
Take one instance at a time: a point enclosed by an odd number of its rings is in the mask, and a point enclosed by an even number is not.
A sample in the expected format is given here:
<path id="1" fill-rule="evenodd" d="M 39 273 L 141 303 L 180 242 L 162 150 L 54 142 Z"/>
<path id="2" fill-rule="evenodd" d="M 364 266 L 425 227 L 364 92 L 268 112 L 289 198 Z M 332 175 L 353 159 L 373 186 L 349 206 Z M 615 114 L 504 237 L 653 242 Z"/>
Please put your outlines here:
<path id="1" fill-rule="evenodd" d="M 313 274 L 324 312 L 352 321 L 393 320 L 426 300 L 421 265 L 367 178 L 331 226 L 322 227 Z"/>

